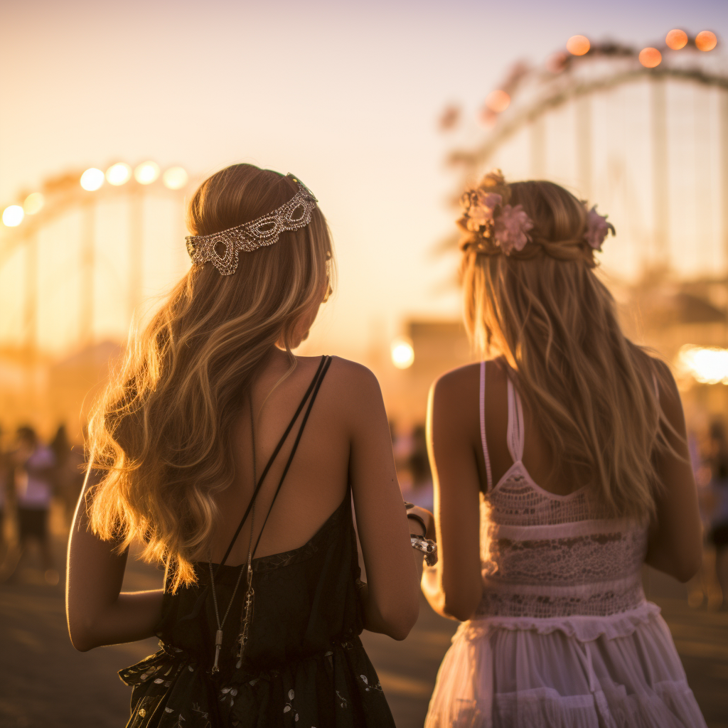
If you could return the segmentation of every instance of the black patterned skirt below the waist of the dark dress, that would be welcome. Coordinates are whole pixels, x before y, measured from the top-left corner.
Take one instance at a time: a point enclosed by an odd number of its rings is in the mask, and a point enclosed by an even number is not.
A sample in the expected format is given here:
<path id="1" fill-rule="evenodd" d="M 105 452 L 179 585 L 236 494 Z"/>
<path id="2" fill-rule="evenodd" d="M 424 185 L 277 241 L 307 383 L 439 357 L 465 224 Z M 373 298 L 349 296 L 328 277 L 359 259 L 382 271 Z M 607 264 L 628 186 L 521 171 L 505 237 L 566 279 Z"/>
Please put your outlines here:
<path id="1" fill-rule="evenodd" d="M 395 728 L 358 637 L 280 670 L 238 669 L 222 681 L 164 645 L 119 677 L 132 687 L 127 728 Z"/>

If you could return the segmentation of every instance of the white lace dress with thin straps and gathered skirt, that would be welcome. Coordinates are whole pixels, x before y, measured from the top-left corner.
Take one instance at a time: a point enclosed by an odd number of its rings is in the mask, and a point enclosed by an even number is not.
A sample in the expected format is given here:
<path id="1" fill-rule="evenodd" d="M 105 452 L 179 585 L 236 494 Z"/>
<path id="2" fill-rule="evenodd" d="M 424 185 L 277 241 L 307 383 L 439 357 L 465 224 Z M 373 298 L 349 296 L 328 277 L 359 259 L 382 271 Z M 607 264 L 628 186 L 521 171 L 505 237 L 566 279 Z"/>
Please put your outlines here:
<path id="1" fill-rule="evenodd" d="M 705 727 L 640 571 L 646 529 L 595 518 L 581 488 L 558 496 L 523 467 L 523 410 L 508 381 L 513 466 L 480 503 L 483 598 L 438 673 L 425 728 Z"/>

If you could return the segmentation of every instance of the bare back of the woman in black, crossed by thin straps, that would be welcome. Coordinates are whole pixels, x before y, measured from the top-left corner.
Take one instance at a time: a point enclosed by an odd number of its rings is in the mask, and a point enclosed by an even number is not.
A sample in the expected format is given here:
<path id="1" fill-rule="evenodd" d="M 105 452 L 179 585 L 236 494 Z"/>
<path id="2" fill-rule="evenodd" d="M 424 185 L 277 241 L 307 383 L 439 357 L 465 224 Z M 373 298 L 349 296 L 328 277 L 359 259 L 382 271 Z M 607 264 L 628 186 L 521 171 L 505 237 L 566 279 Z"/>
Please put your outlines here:
<path id="1" fill-rule="evenodd" d="M 297 357 L 296 368 L 280 381 L 290 365 L 283 352 L 276 352 L 258 376 L 252 392 L 258 478 L 293 418 L 319 363 L 320 357 Z M 334 360 L 323 380 L 296 455 L 261 536 L 256 557 L 303 545 L 347 494 L 352 437 L 346 392 L 342 391 L 347 389 L 347 364 L 344 360 Z M 274 460 L 256 499 L 253 525 L 256 539 L 288 462 L 300 423 L 301 416 Z M 215 499 L 219 509 L 219 528 L 215 531 L 212 558 L 216 563 L 223 557 L 253 495 L 253 438 L 250 430 L 249 405 L 242 403 L 232 435 L 235 480 Z M 243 563 L 248 555 L 249 541 L 250 518 L 243 526 L 227 563 L 233 566 Z"/>

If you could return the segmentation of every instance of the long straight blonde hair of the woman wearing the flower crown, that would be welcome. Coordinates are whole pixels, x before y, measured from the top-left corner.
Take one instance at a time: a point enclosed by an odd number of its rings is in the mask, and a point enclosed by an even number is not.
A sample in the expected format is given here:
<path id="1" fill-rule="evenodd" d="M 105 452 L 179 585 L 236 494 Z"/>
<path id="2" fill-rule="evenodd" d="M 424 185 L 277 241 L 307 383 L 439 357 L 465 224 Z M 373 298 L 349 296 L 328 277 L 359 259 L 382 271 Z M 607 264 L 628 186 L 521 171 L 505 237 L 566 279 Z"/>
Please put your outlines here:
<path id="1" fill-rule="evenodd" d="M 511 205 L 534 224 L 523 250 L 506 256 L 460 221 L 466 328 L 518 373 L 554 468 L 589 475 L 607 514 L 649 518 L 659 487 L 653 455 L 668 448 L 655 391 L 663 368 L 622 333 L 594 272 L 585 205 L 550 182 L 509 188 Z"/>

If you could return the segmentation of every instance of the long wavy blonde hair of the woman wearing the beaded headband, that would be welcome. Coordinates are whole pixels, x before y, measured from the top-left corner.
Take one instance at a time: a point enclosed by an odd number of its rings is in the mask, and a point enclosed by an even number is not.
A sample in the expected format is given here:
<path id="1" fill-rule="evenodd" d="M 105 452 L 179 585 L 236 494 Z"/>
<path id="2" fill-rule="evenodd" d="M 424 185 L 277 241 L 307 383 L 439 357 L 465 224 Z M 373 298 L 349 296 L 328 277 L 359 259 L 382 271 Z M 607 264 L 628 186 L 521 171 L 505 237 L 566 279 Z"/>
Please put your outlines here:
<path id="1" fill-rule="evenodd" d="M 192 234 L 269 213 L 296 183 L 253 165 L 227 167 L 189 203 Z M 90 420 L 90 525 L 119 550 L 143 542 L 147 561 L 172 567 L 173 590 L 194 583 L 210 541 L 214 496 L 233 481 L 233 424 L 273 347 L 290 353 L 296 325 L 331 288 L 333 248 L 318 208 L 304 228 L 240 253 L 233 275 L 193 266 L 141 334 Z M 289 372 L 290 373 L 290 372 Z"/>

